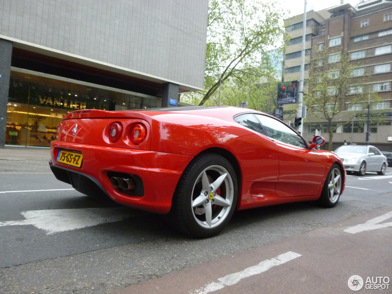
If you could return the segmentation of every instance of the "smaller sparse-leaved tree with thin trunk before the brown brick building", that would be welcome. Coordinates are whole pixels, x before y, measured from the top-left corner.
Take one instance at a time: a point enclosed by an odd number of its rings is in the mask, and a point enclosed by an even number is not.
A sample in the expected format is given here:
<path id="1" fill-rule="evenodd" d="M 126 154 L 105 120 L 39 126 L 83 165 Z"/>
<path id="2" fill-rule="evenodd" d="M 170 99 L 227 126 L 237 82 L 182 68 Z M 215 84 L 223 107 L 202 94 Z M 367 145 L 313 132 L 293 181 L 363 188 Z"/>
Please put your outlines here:
<path id="1" fill-rule="evenodd" d="M 331 53 L 328 49 L 314 54 L 311 62 L 309 93 L 306 97 L 311 116 L 321 118 L 329 126 L 329 150 L 332 151 L 333 131 L 340 125 L 336 116 L 342 111 L 354 109 L 356 105 L 367 108 L 369 86 L 365 85 L 369 76 L 356 76 L 358 64 L 350 60 L 345 51 Z M 363 65 L 362 65 L 363 66 Z M 376 93 L 370 93 L 370 103 L 379 100 Z M 357 112 L 350 111 L 348 122 L 354 119 Z"/>

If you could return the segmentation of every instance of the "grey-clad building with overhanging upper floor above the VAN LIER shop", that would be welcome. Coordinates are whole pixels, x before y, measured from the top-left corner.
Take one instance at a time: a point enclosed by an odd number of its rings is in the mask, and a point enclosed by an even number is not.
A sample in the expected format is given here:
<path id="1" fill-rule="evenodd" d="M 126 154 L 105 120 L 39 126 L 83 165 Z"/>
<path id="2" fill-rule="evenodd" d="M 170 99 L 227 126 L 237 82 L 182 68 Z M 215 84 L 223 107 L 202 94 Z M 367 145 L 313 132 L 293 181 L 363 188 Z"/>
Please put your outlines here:
<path id="1" fill-rule="evenodd" d="M 176 107 L 203 89 L 208 0 L 0 2 L 0 146 L 48 146 L 76 109 Z"/>

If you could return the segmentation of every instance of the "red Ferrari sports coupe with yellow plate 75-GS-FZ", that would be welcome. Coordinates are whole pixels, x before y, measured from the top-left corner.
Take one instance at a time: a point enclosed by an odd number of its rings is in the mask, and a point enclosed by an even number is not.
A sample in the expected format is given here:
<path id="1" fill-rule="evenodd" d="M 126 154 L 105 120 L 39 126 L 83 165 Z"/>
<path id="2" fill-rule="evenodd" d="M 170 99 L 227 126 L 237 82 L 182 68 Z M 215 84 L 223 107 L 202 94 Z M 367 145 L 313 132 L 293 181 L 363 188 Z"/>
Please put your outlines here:
<path id="1" fill-rule="evenodd" d="M 181 232 L 217 234 L 236 210 L 315 200 L 333 207 L 345 169 L 265 113 L 225 106 L 73 111 L 57 128 L 56 178 L 96 198 L 167 214 Z"/>

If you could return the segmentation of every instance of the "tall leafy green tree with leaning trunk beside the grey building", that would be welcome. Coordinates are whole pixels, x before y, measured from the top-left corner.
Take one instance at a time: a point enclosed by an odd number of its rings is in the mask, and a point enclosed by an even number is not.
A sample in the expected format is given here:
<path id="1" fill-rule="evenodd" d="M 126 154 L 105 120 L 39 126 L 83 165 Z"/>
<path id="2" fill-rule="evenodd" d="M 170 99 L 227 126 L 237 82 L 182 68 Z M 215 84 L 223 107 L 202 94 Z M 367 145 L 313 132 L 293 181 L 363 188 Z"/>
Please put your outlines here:
<path id="1" fill-rule="evenodd" d="M 274 76 L 272 56 L 268 51 L 281 41 L 283 17 L 283 12 L 273 2 L 211 0 L 204 90 L 184 94 L 182 101 L 218 104 L 221 83 L 224 101 L 221 104 L 238 106 L 238 101 L 248 101 L 249 105 L 260 109 L 262 103 L 256 101 L 256 92 L 263 92 L 264 86 L 260 84 L 270 82 Z"/>

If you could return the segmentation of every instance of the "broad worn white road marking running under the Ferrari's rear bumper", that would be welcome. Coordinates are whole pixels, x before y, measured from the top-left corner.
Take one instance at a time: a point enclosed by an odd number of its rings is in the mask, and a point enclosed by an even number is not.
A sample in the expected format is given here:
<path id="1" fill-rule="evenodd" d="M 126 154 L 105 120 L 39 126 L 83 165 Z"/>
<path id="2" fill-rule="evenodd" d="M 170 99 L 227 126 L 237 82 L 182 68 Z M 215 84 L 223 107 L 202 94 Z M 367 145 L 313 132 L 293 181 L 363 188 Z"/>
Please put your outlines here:
<path id="1" fill-rule="evenodd" d="M 47 209 L 24 211 L 26 218 L 18 221 L 0 221 L 0 227 L 11 225 L 33 225 L 44 230 L 46 234 L 54 234 L 85 227 L 92 227 L 101 223 L 112 223 L 142 215 L 126 207 L 113 208 L 78 208 L 78 209 Z"/>

